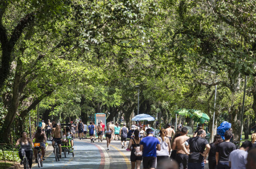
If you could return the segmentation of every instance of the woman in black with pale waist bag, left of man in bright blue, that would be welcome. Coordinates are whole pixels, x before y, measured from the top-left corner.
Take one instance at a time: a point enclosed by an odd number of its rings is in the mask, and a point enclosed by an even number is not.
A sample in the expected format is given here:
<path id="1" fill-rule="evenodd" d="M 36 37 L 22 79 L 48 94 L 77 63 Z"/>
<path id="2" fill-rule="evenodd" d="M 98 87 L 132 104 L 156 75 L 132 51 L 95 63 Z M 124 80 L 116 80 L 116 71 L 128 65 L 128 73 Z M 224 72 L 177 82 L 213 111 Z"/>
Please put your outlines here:
<path id="1" fill-rule="evenodd" d="M 131 151 L 131 168 L 134 169 L 136 165 L 136 169 L 139 169 L 142 161 L 142 151 L 139 150 L 141 138 L 139 138 L 139 130 L 134 130 L 133 133 L 134 138 L 130 139 L 127 149 Z"/>

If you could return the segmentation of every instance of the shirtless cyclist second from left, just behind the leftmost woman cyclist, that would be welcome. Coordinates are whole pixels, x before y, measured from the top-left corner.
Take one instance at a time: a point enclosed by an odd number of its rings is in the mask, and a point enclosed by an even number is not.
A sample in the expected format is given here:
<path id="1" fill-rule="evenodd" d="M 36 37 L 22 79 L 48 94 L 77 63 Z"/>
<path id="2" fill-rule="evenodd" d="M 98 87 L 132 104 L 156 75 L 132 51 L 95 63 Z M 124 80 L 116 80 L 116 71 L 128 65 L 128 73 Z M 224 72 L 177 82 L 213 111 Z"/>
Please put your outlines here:
<path id="1" fill-rule="evenodd" d="M 45 133 L 42 131 L 41 127 L 37 127 L 36 132 L 32 135 L 31 140 L 35 138 L 35 143 L 40 143 L 41 151 L 42 151 L 42 159 L 44 160 L 44 154 L 45 154 L 45 142 L 47 140 Z M 34 149 L 34 156 L 37 163 L 37 150 Z"/>

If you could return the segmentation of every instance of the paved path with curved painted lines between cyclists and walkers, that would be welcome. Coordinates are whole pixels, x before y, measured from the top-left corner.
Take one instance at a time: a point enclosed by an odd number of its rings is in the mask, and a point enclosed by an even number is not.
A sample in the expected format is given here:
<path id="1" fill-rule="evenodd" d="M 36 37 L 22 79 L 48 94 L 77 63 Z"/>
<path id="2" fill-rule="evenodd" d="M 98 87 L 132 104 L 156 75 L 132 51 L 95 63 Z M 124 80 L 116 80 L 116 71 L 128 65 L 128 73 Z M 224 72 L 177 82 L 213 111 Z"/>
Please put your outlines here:
<path id="1" fill-rule="evenodd" d="M 60 161 L 55 161 L 53 148 L 50 143 L 46 151 L 46 159 L 44 161 L 44 169 L 130 169 L 130 151 L 121 149 L 121 141 L 112 141 L 110 150 L 107 150 L 106 140 L 103 142 L 95 141 L 90 143 L 90 140 L 74 140 L 74 157 L 72 154 L 67 154 Z M 127 141 L 127 146 L 128 146 Z M 126 146 L 126 147 L 127 147 Z M 34 162 L 34 161 L 33 161 Z M 34 169 L 38 168 L 36 163 L 33 163 Z M 141 163 L 141 169 L 143 169 Z M 206 164 L 205 169 L 208 169 Z"/>

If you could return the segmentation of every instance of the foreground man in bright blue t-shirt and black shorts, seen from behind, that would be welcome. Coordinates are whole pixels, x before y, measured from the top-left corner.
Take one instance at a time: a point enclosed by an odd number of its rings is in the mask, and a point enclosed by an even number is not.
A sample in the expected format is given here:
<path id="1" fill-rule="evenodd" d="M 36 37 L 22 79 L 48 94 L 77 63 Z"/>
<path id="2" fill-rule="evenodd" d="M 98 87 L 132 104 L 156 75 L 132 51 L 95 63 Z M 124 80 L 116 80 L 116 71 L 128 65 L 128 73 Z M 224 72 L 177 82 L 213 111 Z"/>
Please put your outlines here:
<path id="1" fill-rule="evenodd" d="M 156 167 L 156 151 L 160 151 L 160 143 L 157 138 L 153 136 L 153 130 L 148 128 L 146 130 L 147 137 L 141 140 L 140 150 L 143 151 L 143 168 L 155 169 Z"/>

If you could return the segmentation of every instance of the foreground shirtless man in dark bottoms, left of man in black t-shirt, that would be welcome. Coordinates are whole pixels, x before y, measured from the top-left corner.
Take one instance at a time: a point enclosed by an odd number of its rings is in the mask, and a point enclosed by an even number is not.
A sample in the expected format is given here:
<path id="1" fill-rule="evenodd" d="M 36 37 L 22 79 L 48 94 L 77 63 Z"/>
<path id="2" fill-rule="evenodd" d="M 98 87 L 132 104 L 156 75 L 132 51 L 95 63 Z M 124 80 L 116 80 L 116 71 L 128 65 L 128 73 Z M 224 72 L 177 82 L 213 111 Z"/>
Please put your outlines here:
<path id="1" fill-rule="evenodd" d="M 187 136 L 187 128 L 181 128 L 181 136 L 177 137 L 173 141 L 171 149 L 177 150 L 175 160 L 179 164 L 179 169 L 186 169 L 188 163 L 189 147 L 186 147 L 186 152 L 183 149 L 183 143 L 187 141 L 189 137 Z"/>

